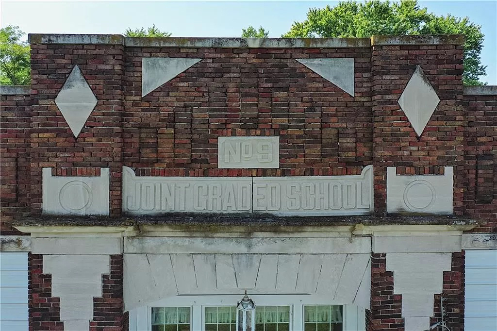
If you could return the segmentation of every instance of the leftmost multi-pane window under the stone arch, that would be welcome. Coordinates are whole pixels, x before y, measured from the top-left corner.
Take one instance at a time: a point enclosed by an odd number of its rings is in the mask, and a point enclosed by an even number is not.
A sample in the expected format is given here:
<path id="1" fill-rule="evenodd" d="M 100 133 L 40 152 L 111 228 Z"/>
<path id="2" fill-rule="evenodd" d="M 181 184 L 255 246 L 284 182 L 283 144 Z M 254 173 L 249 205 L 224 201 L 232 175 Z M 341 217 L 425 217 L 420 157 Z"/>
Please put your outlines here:
<path id="1" fill-rule="evenodd" d="M 152 308 L 152 331 L 190 331 L 190 307 Z"/>

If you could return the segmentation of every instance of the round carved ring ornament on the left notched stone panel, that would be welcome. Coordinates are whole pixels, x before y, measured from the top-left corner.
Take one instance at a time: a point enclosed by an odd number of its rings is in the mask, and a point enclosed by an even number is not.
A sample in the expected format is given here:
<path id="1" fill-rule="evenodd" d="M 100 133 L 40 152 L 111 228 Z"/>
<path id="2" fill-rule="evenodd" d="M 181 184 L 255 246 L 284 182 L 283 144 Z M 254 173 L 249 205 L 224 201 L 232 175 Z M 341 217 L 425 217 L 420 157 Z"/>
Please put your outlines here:
<path id="1" fill-rule="evenodd" d="M 73 180 L 65 184 L 59 192 L 59 202 L 66 211 L 72 214 L 91 205 L 93 196 L 90 187 L 81 180 Z"/>

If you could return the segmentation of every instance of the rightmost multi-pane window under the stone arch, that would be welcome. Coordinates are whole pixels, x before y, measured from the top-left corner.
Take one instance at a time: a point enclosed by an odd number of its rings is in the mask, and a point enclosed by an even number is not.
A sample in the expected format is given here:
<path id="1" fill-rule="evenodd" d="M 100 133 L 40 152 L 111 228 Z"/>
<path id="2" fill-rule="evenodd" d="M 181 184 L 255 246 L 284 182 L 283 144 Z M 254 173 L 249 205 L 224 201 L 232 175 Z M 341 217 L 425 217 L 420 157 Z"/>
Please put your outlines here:
<path id="1" fill-rule="evenodd" d="M 304 331 L 342 331 L 342 306 L 304 306 Z"/>

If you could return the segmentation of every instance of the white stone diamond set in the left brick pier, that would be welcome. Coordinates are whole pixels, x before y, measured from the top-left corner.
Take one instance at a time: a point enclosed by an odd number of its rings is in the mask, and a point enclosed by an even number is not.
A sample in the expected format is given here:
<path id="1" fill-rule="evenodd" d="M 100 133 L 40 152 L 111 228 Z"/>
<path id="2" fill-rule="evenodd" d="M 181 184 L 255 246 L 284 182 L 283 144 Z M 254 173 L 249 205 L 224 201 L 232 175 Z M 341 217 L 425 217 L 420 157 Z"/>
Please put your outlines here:
<path id="1" fill-rule="evenodd" d="M 77 65 L 74 66 L 66 83 L 57 94 L 55 104 L 59 107 L 76 138 L 96 103 L 97 99 L 86 83 L 80 68 Z"/>

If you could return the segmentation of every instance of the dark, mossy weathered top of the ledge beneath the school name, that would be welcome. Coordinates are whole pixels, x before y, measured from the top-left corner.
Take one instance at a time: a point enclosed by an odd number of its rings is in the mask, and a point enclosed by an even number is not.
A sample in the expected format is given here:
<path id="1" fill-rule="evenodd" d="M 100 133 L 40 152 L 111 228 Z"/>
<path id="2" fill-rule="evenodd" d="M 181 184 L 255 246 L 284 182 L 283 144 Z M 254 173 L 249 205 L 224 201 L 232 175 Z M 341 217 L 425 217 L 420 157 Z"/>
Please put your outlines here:
<path id="1" fill-rule="evenodd" d="M 344 225 L 478 225 L 484 221 L 461 216 L 397 215 L 387 216 L 318 216 L 278 217 L 264 214 L 190 214 L 171 213 L 161 216 L 128 216 L 108 218 L 99 216 L 38 216 L 12 221 L 15 226 L 107 226 L 122 227 L 135 225 L 174 226 L 344 226 Z"/>

